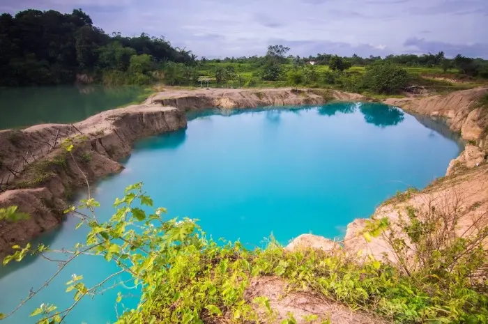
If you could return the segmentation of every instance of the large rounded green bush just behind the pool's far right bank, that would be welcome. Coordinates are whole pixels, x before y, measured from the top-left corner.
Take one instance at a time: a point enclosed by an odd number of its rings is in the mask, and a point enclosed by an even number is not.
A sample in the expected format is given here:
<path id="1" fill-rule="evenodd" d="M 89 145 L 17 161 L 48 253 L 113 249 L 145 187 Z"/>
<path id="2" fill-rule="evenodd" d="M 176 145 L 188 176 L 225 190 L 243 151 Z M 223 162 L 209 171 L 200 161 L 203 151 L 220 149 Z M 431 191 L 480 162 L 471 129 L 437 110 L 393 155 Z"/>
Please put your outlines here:
<path id="1" fill-rule="evenodd" d="M 409 73 L 388 61 L 376 62 L 366 68 L 364 86 L 374 93 L 398 93 L 409 83 Z"/>

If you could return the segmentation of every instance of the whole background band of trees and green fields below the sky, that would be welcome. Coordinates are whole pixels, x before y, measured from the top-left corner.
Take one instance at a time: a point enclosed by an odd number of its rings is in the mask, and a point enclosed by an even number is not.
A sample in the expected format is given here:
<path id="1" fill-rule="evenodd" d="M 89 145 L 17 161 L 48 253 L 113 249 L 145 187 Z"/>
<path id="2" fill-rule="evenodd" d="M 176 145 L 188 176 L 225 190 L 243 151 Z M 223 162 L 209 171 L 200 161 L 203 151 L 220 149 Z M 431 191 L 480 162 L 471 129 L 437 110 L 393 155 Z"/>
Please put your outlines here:
<path id="1" fill-rule="evenodd" d="M 108 36 L 82 10 L 24 10 L 0 16 L 0 86 L 101 82 L 225 88 L 307 86 L 391 95 L 406 86 L 446 93 L 487 84 L 488 61 L 461 54 L 291 56 L 273 45 L 264 56 L 197 59 L 164 38 Z M 310 62 L 314 62 L 311 65 Z"/>

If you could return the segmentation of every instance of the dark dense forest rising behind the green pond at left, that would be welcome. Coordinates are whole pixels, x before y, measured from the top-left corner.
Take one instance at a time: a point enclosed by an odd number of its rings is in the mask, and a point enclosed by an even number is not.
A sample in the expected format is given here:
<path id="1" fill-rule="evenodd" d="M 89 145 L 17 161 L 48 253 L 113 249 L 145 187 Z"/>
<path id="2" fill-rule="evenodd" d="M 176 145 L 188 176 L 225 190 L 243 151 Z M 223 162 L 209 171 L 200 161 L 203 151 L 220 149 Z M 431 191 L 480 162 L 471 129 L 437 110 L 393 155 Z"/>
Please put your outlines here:
<path id="1" fill-rule="evenodd" d="M 68 84 L 77 75 L 101 77 L 128 70 L 134 79 L 144 79 L 144 72 L 155 70 L 158 63 L 189 64 L 196 57 L 144 33 L 132 38 L 119 33 L 108 36 L 79 9 L 70 14 L 3 13 L 0 48 L 0 86 Z"/>

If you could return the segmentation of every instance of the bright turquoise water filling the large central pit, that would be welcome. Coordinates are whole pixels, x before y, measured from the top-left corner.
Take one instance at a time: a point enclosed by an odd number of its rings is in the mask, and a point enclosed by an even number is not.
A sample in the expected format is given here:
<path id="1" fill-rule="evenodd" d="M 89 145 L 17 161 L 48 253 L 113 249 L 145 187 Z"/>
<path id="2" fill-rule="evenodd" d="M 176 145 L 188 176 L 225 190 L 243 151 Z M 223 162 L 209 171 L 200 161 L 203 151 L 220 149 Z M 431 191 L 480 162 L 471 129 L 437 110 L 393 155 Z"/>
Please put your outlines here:
<path id="1" fill-rule="evenodd" d="M 449 134 L 426 128 L 415 117 L 379 104 L 334 103 L 305 109 L 208 111 L 191 116 L 188 128 L 137 142 L 126 169 L 100 181 L 94 196 L 99 219 L 125 186 L 143 181 L 169 216 L 201 219 L 213 238 L 262 247 L 271 234 L 287 244 L 301 233 L 343 236 L 346 225 L 368 217 L 376 206 L 407 185 L 425 187 L 445 174 L 459 145 Z M 431 125 L 434 127 L 434 125 Z M 442 126 L 435 127 L 442 130 Z M 76 219 L 41 238 L 52 247 L 84 240 Z M 29 259 L 3 269 L 0 311 L 15 307 L 29 288 L 43 284 L 56 264 Z M 25 320 L 41 302 L 70 305 L 64 293 L 73 273 L 94 284 L 116 268 L 105 259 L 83 257 L 6 323 Z M 137 291 L 123 289 L 125 294 Z M 84 300 L 68 323 L 114 321 L 116 291 Z M 125 300 L 135 307 L 137 298 Z M 119 309 L 120 310 L 120 309 Z"/>

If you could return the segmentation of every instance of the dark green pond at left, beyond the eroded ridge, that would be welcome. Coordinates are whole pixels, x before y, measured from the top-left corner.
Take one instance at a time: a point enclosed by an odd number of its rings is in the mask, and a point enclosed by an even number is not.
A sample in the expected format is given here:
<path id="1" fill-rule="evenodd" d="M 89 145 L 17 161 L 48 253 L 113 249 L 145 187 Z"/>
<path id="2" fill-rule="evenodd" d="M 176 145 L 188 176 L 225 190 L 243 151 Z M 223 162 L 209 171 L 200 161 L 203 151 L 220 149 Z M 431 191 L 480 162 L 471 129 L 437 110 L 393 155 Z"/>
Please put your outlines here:
<path id="1" fill-rule="evenodd" d="M 138 86 L 0 88 L 0 130 L 39 123 L 73 123 L 139 99 Z"/>

